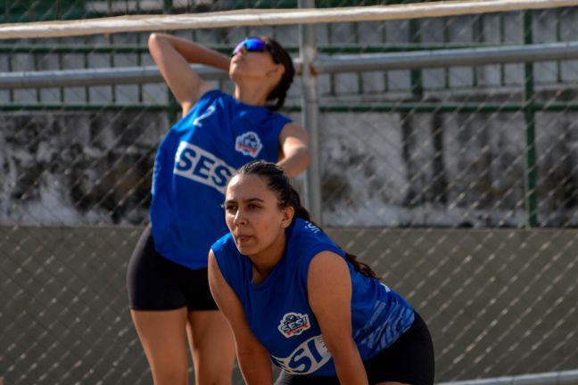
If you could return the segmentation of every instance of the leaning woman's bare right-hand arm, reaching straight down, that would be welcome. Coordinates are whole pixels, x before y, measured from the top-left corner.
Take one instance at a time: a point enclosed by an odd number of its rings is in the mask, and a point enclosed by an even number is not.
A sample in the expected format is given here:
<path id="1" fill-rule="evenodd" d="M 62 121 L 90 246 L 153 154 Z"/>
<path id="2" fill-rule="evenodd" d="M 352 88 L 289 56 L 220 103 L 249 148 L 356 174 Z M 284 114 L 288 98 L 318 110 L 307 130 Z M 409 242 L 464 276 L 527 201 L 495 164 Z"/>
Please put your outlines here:
<path id="1" fill-rule="evenodd" d="M 345 260 L 331 251 L 315 256 L 307 276 L 307 291 L 339 382 L 367 385 L 367 373 L 351 332 L 351 277 Z"/>

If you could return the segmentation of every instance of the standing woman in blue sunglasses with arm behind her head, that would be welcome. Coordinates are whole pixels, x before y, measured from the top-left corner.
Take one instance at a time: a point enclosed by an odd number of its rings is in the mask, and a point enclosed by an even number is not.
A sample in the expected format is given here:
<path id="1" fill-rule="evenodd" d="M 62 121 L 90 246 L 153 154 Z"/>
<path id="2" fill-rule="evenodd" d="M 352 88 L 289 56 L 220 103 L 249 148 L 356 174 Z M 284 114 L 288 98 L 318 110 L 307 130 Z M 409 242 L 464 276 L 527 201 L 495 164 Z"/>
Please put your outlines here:
<path id="1" fill-rule="evenodd" d="M 155 385 L 187 383 L 187 340 L 195 383 L 228 385 L 235 344 L 211 297 L 207 255 L 227 233 L 220 204 L 236 168 L 268 160 L 295 176 L 309 165 L 306 132 L 275 112 L 293 81 L 293 62 L 268 37 L 248 37 L 227 57 L 155 33 L 149 50 L 183 118 L 154 162 L 151 226 L 128 264 L 131 316 Z M 190 63 L 228 70 L 234 94 L 214 89 Z"/>

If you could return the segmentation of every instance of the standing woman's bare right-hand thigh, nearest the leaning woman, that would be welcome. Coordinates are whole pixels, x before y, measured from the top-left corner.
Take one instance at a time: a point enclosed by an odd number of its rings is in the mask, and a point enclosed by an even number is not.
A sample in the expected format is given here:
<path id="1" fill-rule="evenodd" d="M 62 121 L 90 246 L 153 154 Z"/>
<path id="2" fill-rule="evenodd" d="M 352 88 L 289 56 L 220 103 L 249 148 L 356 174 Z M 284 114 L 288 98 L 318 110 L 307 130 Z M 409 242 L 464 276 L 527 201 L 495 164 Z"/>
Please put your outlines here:
<path id="1" fill-rule="evenodd" d="M 188 313 L 188 336 L 196 383 L 230 384 L 235 364 L 235 339 L 218 310 Z"/>

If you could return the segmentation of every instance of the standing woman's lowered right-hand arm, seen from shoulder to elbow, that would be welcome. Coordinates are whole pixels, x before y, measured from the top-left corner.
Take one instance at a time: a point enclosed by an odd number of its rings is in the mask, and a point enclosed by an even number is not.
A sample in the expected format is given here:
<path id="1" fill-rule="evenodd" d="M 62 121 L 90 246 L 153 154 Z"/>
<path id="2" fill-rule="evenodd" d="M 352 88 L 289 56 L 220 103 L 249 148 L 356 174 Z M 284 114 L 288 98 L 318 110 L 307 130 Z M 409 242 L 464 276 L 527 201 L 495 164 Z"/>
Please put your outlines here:
<path id="1" fill-rule="evenodd" d="M 310 164 L 309 135 L 295 123 L 287 123 L 281 135 L 281 160 L 277 163 L 288 176 L 296 176 Z"/>

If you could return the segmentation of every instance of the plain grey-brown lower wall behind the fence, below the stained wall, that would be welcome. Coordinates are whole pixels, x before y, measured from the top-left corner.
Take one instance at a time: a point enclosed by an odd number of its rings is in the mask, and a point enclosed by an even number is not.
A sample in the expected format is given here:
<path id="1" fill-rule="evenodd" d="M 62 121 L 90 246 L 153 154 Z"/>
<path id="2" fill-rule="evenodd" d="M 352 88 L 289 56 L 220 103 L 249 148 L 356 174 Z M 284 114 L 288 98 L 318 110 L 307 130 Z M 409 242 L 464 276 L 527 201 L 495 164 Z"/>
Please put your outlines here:
<path id="1" fill-rule="evenodd" d="M 125 289 L 141 230 L 0 226 L 0 377 L 6 384 L 151 383 Z M 435 344 L 436 381 L 576 368 L 577 231 L 328 233 L 424 316 Z"/>

